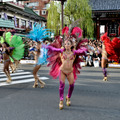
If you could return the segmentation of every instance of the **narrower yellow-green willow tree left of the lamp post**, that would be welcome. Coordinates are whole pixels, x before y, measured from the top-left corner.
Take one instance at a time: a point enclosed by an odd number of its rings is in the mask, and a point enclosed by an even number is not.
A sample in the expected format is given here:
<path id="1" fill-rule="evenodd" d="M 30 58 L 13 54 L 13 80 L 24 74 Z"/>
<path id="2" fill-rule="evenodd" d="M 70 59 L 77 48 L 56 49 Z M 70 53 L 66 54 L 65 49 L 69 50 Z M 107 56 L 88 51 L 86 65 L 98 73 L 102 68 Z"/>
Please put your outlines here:
<path id="1" fill-rule="evenodd" d="M 59 34 L 60 13 L 57 11 L 57 6 L 54 1 L 50 2 L 50 7 L 48 8 L 47 28 L 54 31 L 55 35 Z"/>

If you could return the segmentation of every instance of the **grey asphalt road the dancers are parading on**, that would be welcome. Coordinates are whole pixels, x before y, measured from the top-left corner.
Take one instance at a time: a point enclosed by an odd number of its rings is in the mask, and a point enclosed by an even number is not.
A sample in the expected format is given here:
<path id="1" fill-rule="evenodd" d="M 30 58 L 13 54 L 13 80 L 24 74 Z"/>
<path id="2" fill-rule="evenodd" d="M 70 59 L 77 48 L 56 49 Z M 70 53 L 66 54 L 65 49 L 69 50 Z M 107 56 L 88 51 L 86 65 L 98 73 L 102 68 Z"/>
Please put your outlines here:
<path id="1" fill-rule="evenodd" d="M 109 81 L 102 81 L 101 68 L 83 67 L 75 83 L 72 106 L 58 109 L 59 81 L 52 80 L 45 66 L 40 77 L 47 77 L 45 88 L 33 89 L 33 81 L 2 86 L 0 81 L 0 120 L 120 120 L 120 69 L 108 69 Z M 22 65 L 25 74 L 18 81 L 32 79 L 32 65 Z M 21 73 L 18 71 L 17 73 Z M 27 73 L 29 72 L 29 73 Z M 4 78 L 1 76 L 0 80 Z M 4 78 L 5 79 L 5 78 Z M 17 81 L 16 79 L 14 81 Z M 66 81 L 65 95 L 68 91 Z"/>

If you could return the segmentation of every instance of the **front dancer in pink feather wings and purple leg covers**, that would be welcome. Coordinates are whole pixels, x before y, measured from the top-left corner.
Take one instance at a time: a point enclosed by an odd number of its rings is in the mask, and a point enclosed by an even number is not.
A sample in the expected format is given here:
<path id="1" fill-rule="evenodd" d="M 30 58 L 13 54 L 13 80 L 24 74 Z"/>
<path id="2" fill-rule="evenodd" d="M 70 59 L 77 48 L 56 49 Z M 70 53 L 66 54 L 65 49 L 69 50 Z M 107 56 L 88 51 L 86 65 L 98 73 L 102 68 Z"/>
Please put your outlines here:
<path id="1" fill-rule="evenodd" d="M 75 80 L 77 79 L 76 73 L 79 74 L 79 69 L 81 68 L 80 62 L 82 60 L 79 58 L 79 56 L 85 55 L 87 51 L 85 45 L 82 44 L 87 42 L 87 40 L 78 42 L 76 48 L 74 46 L 73 39 L 77 39 L 76 33 L 78 33 L 79 37 L 81 37 L 80 34 L 82 34 L 82 31 L 80 28 L 75 27 L 70 35 L 68 34 L 68 31 L 64 31 L 64 33 L 66 33 L 66 37 L 62 49 L 62 40 L 60 37 L 58 37 L 57 40 L 49 46 L 43 46 L 48 49 L 49 57 L 47 60 L 49 62 L 48 66 L 51 65 L 50 75 L 54 79 L 59 76 L 60 110 L 63 109 L 65 78 L 67 78 L 69 82 L 68 94 L 66 96 L 66 105 L 70 106 L 70 98 L 74 90 Z"/>

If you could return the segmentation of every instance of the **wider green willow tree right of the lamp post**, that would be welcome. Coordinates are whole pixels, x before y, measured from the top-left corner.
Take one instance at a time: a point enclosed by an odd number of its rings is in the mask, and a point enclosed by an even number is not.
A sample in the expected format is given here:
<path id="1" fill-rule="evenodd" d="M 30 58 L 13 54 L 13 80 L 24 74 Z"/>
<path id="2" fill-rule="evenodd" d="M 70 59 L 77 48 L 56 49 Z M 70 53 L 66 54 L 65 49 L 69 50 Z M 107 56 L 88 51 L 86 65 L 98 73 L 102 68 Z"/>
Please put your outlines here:
<path id="1" fill-rule="evenodd" d="M 94 25 L 89 0 L 67 0 L 64 16 L 66 24 L 79 26 L 85 31 L 86 37 L 93 36 Z"/>

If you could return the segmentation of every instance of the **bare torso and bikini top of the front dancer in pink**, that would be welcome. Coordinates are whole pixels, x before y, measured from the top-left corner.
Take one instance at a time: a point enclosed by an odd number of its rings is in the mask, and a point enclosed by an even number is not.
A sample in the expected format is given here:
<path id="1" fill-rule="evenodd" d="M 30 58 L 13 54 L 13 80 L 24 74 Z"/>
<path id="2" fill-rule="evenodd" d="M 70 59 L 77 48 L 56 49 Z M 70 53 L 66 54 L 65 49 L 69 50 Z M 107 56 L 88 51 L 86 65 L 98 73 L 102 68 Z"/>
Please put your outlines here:
<path id="1" fill-rule="evenodd" d="M 61 54 L 61 61 L 62 61 L 62 65 L 60 67 L 61 71 L 63 71 L 64 73 L 70 73 L 73 71 L 73 62 L 75 60 L 75 56 L 73 55 L 73 53 L 71 54 Z"/>

